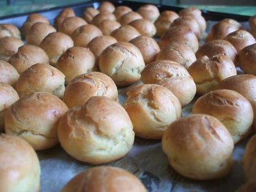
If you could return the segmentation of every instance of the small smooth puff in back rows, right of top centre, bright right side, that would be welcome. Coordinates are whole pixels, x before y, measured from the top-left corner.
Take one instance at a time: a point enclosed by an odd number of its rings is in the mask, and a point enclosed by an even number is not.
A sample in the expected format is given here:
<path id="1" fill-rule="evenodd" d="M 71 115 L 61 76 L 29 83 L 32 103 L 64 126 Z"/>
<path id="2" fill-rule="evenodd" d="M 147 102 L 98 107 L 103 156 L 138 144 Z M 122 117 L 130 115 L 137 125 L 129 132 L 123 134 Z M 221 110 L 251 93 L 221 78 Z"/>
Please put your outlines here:
<path id="1" fill-rule="evenodd" d="M 136 19 L 129 25 L 136 28 L 141 35 L 153 37 L 156 34 L 156 27 L 147 19 Z"/>

